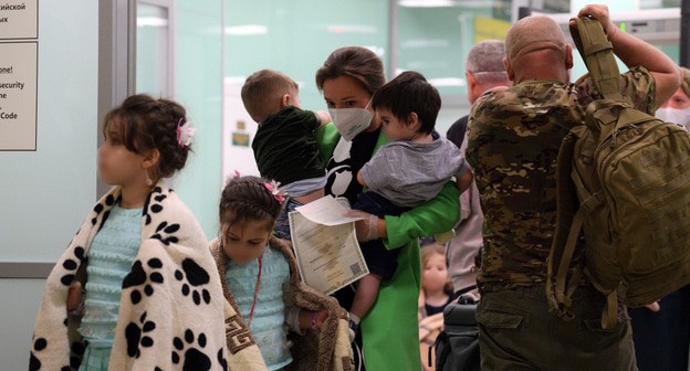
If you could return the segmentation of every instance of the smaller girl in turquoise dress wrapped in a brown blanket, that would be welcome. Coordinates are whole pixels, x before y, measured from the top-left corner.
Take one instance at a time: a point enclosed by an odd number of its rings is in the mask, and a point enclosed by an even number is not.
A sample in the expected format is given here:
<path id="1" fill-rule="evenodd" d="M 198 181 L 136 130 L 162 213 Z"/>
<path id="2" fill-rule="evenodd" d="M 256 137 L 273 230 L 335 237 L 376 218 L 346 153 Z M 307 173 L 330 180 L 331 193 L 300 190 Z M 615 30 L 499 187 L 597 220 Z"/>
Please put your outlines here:
<path id="1" fill-rule="evenodd" d="M 228 300 L 228 365 L 352 370 L 346 312 L 302 284 L 290 246 L 272 236 L 282 202 L 275 183 L 257 177 L 236 176 L 222 191 L 211 251 Z"/>

